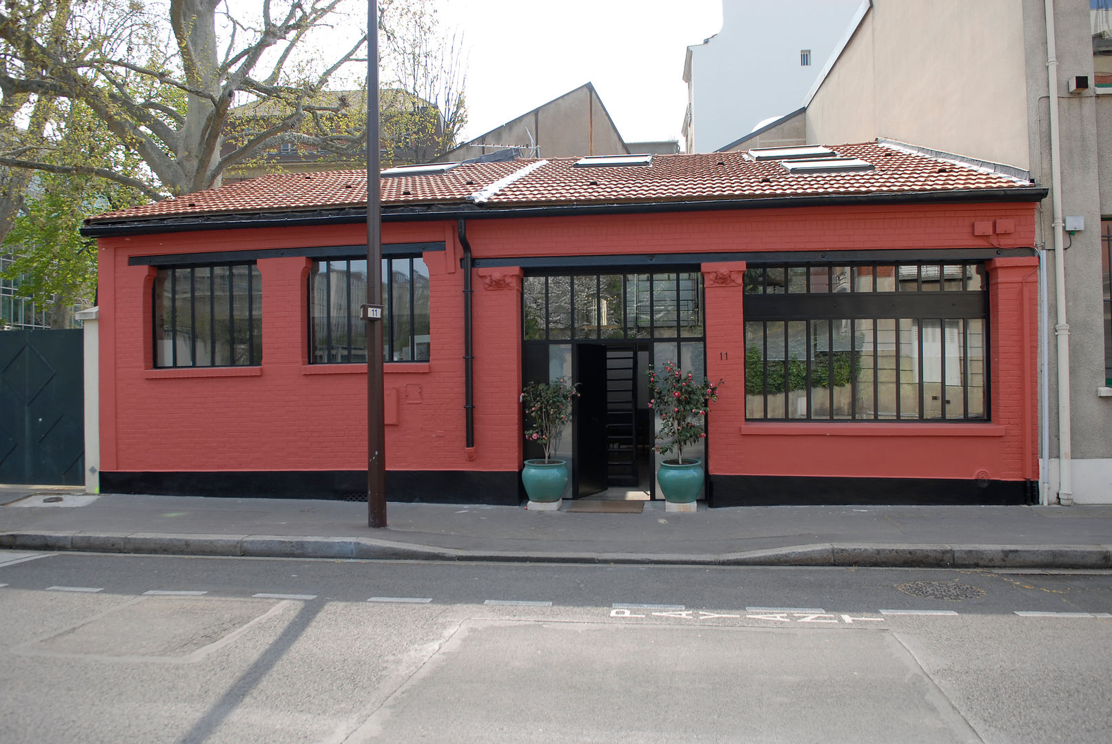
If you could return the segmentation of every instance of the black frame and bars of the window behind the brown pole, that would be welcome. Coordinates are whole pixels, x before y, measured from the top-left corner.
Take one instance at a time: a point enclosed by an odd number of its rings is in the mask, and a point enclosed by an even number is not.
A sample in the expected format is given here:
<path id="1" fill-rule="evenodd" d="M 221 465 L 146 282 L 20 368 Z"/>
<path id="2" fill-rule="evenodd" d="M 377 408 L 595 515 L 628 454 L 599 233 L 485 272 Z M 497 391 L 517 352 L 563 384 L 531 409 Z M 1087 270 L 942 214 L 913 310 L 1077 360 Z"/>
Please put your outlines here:
<path id="1" fill-rule="evenodd" d="M 364 262 L 366 262 L 365 259 L 354 258 L 351 255 L 337 255 L 337 257 L 321 255 L 319 258 L 314 258 L 312 259 L 311 268 L 310 268 L 310 271 L 309 271 L 309 281 L 308 281 L 307 285 L 306 285 L 306 296 L 307 296 L 307 308 L 308 308 L 307 319 L 306 319 L 306 322 L 308 323 L 308 340 L 307 340 L 307 342 L 308 342 L 308 360 L 309 360 L 310 364 L 366 364 L 367 363 L 366 359 L 357 360 L 357 361 L 353 361 L 353 359 L 351 359 L 353 358 L 353 352 L 356 351 L 356 350 L 361 350 L 364 352 L 364 354 L 366 354 L 366 348 L 365 346 L 358 346 L 356 343 L 354 343 L 354 340 L 356 338 L 360 338 L 360 331 L 364 331 L 364 325 L 363 324 L 365 322 L 365 321 L 363 321 L 359 318 L 359 308 L 360 308 L 360 305 L 364 304 L 364 302 L 366 302 L 366 296 L 365 295 L 364 296 L 356 296 L 355 293 L 353 293 L 353 291 L 351 291 L 351 262 L 353 261 L 357 261 L 358 262 L 360 260 L 363 260 Z M 393 350 L 394 350 L 394 342 L 395 342 L 396 338 L 398 338 L 398 332 L 399 332 L 399 329 L 396 328 L 397 323 L 395 323 L 395 318 L 394 318 L 394 306 L 395 306 L 394 303 L 395 303 L 395 291 L 396 291 L 396 282 L 394 282 L 394 264 L 396 262 L 401 262 L 401 261 L 408 262 L 408 269 L 409 269 L 409 274 L 408 275 L 410 278 L 410 281 L 409 281 L 409 298 L 408 298 L 408 300 L 409 300 L 409 302 L 408 302 L 408 305 L 409 305 L 408 316 L 409 316 L 410 321 L 409 321 L 409 343 L 407 345 L 408 353 L 409 353 L 409 359 L 391 359 L 391 356 L 393 356 Z M 418 358 L 417 356 L 417 354 L 418 354 L 418 343 L 417 343 L 417 334 L 415 333 L 415 330 L 416 330 L 415 329 L 415 323 L 413 321 L 413 319 L 417 316 L 416 315 L 416 312 L 417 312 L 417 289 L 416 289 L 416 282 L 413 281 L 413 277 L 415 275 L 415 273 L 414 273 L 414 261 L 420 261 L 421 262 L 421 265 L 425 268 L 424 275 L 428 277 L 429 275 L 428 274 L 428 263 L 425 261 L 425 257 L 421 253 L 419 253 L 419 252 L 417 252 L 417 253 L 396 253 L 396 254 L 390 254 L 390 255 L 384 255 L 383 257 L 383 273 L 381 273 L 381 275 L 383 275 L 383 281 L 384 281 L 384 284 L 385 284 L 384 292 L 383 292 L 384 296 L 383 296 L 383 319 L 381 319 L 381 323 L 383 323 L 383 345 L 384 345 L 384 349 L 383 349 L 383 360 L 387 364 L 413 364 L 413 363 L 427 364 L 431 360 L 431 356 L 433 356 L 431 340 L 429 340 L 429 343 L 428 343 L 428 355 L 424 356 L 424 358 Z M 346 267 L 344 269 L 344 273 L 346 274 L 346 280 L 344 282 L 344 285 L 346 288 L 345 291 L 347 292 L 347 308 L 348 308 L 347 339 L 348 339 L 348 343 L 347 343 L 346 346 L 342 348 L 344 353 L 341 354 L 341 353 L 338 352 L 337 353 L 337 358 L 332 359 L 331 302 L 330 302 L 330 299 L 326 299 L 325 303 L 324 303 L 324 308 L 325 308 L 325 311 L 326 311 L 326 315 L 324 318 L 324 324 L 325 324 L 326 334 L 327 334 L 326 335 L 326 342 L 325 342 L 326 359 L 325 360 L 319 360 L 319 359 L 317 359 L 317 353 L 316 353 L 316 351 L 317 351 L 316 350 L 317 342 L 316 342 L 316 334 L 315 334 L 315 323 L 316 323 L 316 321 L 318 319 L 314 316 L 314 296 L 312 296 L 312 292 L 314 292 L 314 277 L 317 275 L 317 273 L 319 271 L 319 265 L 321 263 L 324 263 L 324 262 L 327 262 L 327 263 L 345 263 L 346 264 Z M 329 269 L 329 271 L 330 271 L 330 269 Z M 368 273 L 367 273 L 367 280 L 369 281 L 369 279 L 370 279 L 370 273 L 368 271 Z M 331 282 L 327 283 L 327 290 L 326 291 L 329 293 L 328 296 L 330 298 Z M 431 305 L 431 298 L 429 298 L 429 304 Z M 431 335 L 431 308 L 426 308 L 426 311 L 428 312 L 428 315 L 429 315 L 429 335 Z"/>

